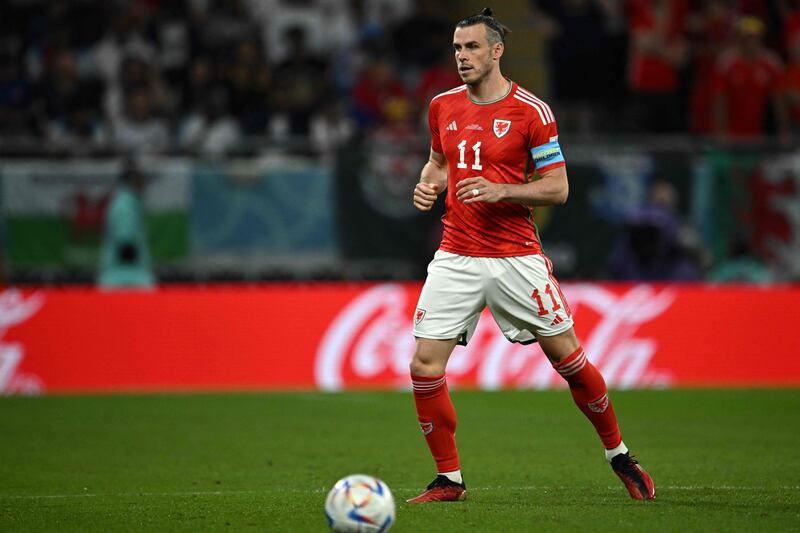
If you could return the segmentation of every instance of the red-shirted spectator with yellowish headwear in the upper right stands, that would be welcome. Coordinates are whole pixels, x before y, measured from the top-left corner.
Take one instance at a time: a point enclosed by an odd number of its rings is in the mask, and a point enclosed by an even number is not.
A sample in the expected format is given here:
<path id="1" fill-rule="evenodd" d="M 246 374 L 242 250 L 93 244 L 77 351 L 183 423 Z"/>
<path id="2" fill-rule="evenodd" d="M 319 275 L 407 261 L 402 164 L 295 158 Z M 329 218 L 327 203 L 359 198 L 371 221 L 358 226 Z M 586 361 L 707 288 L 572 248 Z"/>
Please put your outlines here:
<path id="1" fill-rule="evenodd" d="M 723 52 L 714 72 L 715 131 L 732 139 L 764 135 L 772 104 L 778 133 L 785 136 L 786 106 L 779 91 L 783 65 L 762 46 L 760 20 L 742 17 L 736 29 L 736 43 Z"/>

